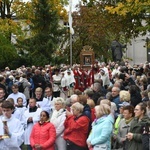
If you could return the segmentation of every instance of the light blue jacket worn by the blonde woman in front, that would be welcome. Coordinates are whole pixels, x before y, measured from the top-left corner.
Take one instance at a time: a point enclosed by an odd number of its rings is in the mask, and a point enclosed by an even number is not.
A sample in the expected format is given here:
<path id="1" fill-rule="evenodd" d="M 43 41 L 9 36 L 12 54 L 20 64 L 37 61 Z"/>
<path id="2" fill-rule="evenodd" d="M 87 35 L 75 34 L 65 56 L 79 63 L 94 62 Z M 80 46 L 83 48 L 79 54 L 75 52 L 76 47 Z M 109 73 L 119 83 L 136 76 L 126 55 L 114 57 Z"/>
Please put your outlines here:
<path id="1" fill-rule="evenodd" d="M 97 144 L 107 144 L 111 150 L 111 135 L 113 131 L 114 119 L 112 115 L 103 116 L 92 123 L 92 131 L 87 139 L 93 146 Z"/>

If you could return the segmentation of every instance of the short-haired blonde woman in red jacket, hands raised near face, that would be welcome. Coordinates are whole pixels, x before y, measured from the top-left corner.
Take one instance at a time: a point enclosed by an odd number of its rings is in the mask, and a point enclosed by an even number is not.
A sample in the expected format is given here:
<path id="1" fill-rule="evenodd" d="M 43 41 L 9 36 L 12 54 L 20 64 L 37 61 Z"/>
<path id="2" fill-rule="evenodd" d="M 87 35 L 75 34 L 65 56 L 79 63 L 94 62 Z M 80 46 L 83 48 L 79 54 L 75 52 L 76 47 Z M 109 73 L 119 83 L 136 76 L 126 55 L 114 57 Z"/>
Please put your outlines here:
<path id="1" fill-rule="evenodd" d="M 79 102 L 72 105 L 72 113 L 66 111 L 66 121 L 64 123 L 64 139 L 67 142 L 67 150 L 86 150 L 86 139 L 89 133 L 90 119 L 82 115 L 84 106 Z"/>

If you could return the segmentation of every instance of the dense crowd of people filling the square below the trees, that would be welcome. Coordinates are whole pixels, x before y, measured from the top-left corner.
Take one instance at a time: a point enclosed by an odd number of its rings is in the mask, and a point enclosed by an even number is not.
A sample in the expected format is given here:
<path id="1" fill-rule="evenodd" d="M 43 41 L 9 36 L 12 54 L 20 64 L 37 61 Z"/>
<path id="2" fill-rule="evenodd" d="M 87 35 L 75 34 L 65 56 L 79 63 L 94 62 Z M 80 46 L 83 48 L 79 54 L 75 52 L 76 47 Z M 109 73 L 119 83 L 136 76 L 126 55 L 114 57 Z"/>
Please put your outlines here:
<path id="1" fill-rule="evenodd" d="M 150 64 L 6 67 L 0 150 L 149 150 Z"/>

